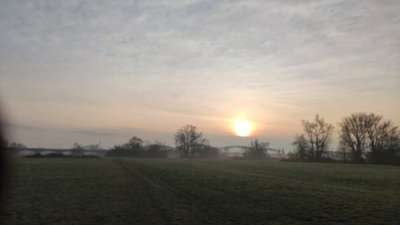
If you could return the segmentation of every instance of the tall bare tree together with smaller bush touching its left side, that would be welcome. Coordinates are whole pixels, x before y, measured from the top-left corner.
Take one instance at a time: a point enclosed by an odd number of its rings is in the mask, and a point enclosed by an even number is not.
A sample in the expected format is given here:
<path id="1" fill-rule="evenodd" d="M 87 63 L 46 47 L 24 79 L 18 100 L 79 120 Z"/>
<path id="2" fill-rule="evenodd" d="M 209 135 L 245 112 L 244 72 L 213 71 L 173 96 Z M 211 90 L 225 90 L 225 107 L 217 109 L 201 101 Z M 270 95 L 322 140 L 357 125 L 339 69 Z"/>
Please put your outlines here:
<path id="1" fill-rule="evenodd" d="M 304 133 L 298 135 L 293 142 L 297 153 L 302 159 L 320 161 L 329 147 L 333 133 L 333 125 L 325 122 L 319 115 L 314 121 L 303 120 Z"/>

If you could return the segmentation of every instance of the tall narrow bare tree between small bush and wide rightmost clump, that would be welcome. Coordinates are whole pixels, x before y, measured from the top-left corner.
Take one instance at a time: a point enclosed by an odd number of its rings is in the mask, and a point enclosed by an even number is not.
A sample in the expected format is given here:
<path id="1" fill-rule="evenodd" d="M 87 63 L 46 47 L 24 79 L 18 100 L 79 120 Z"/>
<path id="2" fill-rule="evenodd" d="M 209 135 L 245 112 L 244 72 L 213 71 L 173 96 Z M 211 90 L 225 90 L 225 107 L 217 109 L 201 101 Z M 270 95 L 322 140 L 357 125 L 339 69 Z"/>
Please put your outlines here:
<path id="1" fill-rule="evenodd" d="M 316 115 L 314 121 L 304 120 L 303 128 L 304 134 L 302 138 L 307 140 L 309 158 L 311 160 L 321 160 L 323 153 L 328 149 L 334 129 L 333 125 Z"/>

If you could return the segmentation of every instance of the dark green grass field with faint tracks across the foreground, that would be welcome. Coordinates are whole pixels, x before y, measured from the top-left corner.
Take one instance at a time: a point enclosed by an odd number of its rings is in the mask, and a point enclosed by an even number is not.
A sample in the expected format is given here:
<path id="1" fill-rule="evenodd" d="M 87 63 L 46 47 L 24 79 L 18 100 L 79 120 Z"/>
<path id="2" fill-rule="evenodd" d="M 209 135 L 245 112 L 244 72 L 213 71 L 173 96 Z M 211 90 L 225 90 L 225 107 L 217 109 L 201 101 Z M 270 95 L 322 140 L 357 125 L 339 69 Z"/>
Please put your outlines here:
<path id="1" fill-rule="evenodd" d="M 400 224 L 400 167 L 19 159 L 5 224 Z"/>

